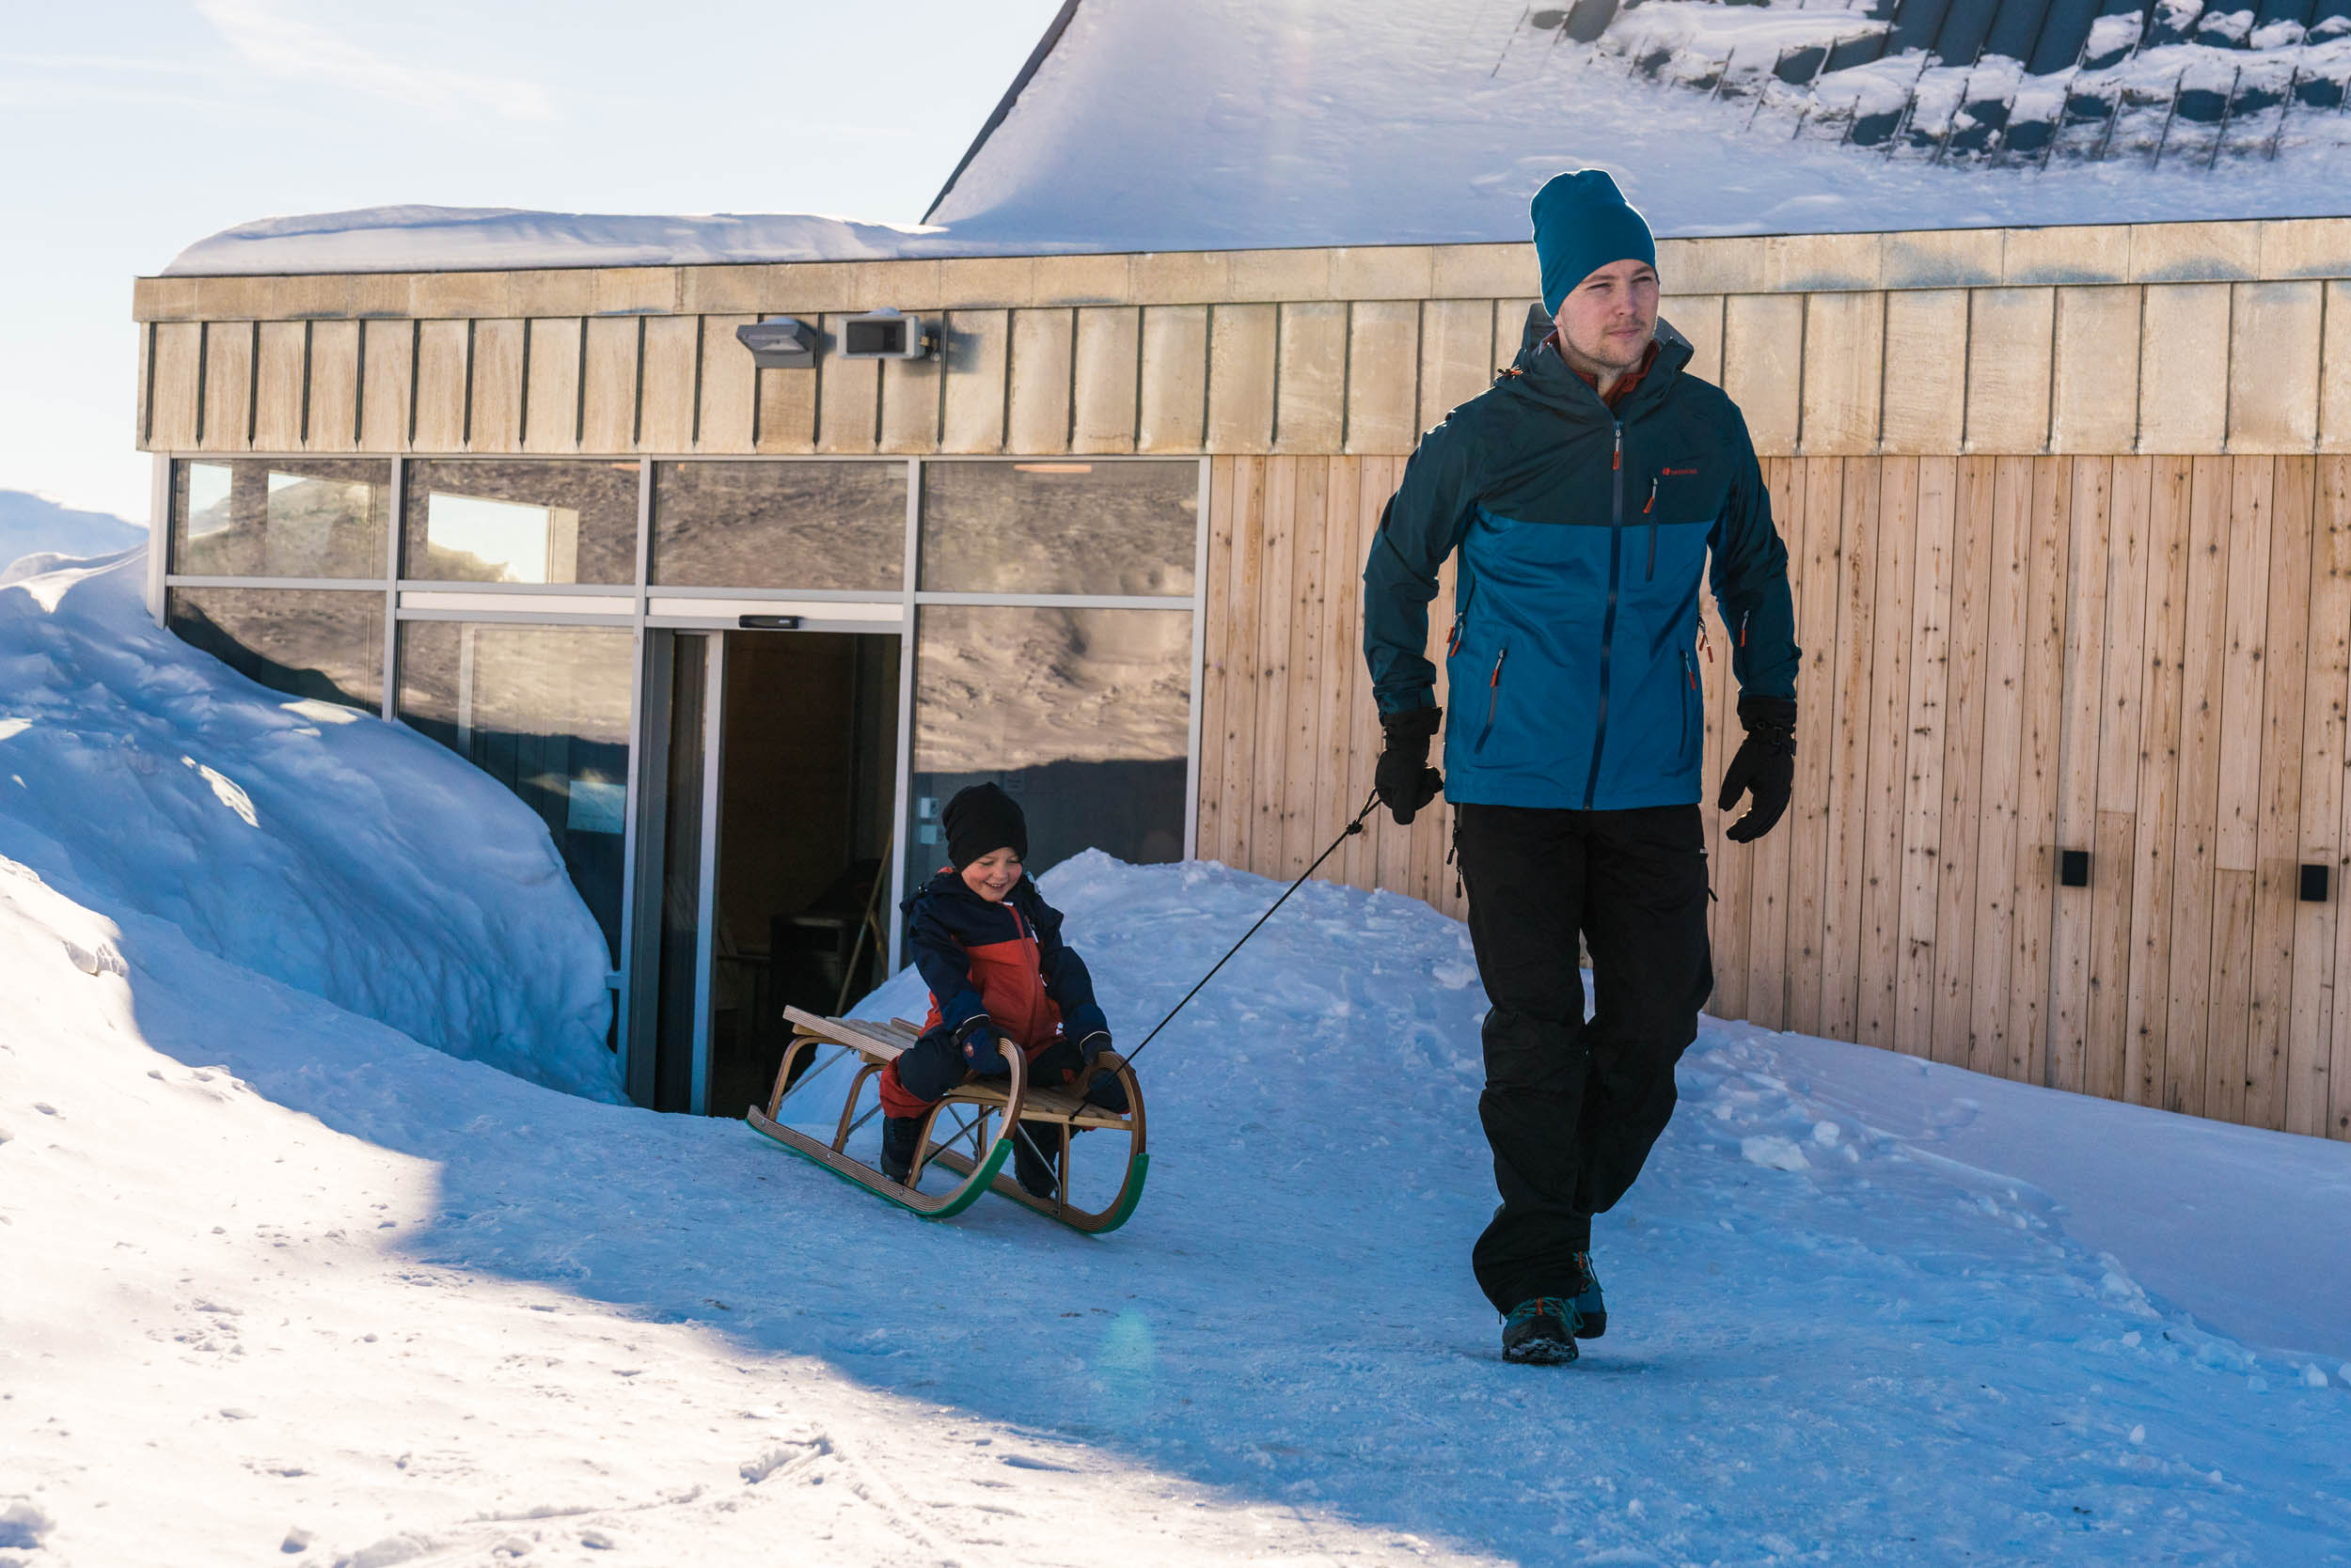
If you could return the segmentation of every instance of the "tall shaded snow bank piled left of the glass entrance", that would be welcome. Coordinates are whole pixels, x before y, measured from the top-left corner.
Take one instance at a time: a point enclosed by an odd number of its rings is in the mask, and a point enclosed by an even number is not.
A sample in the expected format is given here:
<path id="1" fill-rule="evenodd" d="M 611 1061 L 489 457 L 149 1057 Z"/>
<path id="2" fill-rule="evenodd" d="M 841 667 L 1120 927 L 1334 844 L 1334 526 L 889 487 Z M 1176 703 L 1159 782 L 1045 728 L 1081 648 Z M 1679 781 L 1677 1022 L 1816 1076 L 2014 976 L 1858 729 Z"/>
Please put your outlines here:
<path id="1" fill-rule="evenodd" d="M 604 938 L 538 818 L 423 736 L 162 632 L 143 574 L 139 550 L 0 576 L 0 856 L 451 1056 L 621 1098 Z"/>

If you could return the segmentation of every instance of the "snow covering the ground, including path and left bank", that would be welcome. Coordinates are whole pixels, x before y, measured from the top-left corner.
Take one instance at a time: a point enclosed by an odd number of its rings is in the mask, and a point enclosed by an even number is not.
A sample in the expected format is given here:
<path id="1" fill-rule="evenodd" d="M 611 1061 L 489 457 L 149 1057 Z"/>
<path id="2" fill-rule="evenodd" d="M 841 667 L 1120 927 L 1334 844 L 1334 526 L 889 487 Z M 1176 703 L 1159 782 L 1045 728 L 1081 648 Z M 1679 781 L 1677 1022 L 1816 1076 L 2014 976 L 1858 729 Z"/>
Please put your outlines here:
<path id="1" fill-rule="evenodd" d="M 2344 1561 L 2351 1145 L 1709 1020 L 1599 1227 L 1608 1338 L 1505 1366 L 1467 936 L 1310 884 L 1140 1058 L 1131 1225 L 922 1222 L 461 1060 L 456 999 L 411 1009 L 433 1048 L 266 973 L 235 929 L 289 924 L 277 882 L 557 1013 L 592 926 L 494 785 L 169 656 L 122 576 L 0 590 L 35 719 L 0 741 L 35 780 L 0 795 L 9 1568 Z M 308 835 L 353 818 L 364 863 Z M 440 903 L 426 823 L 470 832 Z M 299 856 L 242 919 L 118 846 L 233 875 L 259 832 Z M 1277 891 L 1046 877 L 1128 1046 Z"/>

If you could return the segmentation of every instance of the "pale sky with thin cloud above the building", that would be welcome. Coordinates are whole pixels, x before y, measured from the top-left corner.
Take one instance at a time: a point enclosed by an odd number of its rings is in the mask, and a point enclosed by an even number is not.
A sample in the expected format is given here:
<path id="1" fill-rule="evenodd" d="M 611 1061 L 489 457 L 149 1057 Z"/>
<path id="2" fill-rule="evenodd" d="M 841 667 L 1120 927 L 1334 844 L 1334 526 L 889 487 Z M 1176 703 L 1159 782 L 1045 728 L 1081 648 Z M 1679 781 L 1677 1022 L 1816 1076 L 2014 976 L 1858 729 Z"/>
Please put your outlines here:
<path id="1" fill-rule="evenodd" d="M 146 522 L 132 280 L 421 202 L 915 221 L 1056 0 L 0 7 L 0 489 Z"/>

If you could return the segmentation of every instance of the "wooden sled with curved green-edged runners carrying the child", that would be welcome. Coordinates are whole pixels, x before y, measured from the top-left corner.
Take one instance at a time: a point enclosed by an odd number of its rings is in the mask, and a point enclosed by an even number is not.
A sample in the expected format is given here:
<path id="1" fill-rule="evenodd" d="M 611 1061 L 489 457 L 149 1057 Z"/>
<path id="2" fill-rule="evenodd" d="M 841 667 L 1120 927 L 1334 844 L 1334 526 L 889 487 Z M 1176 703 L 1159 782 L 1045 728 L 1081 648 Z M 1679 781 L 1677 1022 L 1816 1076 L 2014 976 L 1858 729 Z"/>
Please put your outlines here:
<path id="1" fill-rule="evenodd" d="M 1117 1074 L 1119 1084 L 1126 1086 L 1128 1114 L 1117 1114 L 1103 1110 L 1100 1105 L 1089 1105 L 1070 1088 L 1044 1088 L 1030 1084 L 1027 1063 L 1018 1051 L 1006 1051 L 1004 1060 L 1011 1065 L 1011 1074 L 1002 1079 L 969 1079 L 931 1107 L 931 1114 L 922 1124 L 922 1143 L 915 1147 L 915 1166 L 905 1182 L 893 1182 L 882 1175 L 875 1166 L 863 1159 L 853 1159 L 849 1150 L 849 1138 L 860 1126 L 882 1114 L 879 1088 L 875 1091 L 875 1103 L 870 1110 L 858 1114 L 858 1105 L 865 1098 L 865 1086 L 879 1077 L 900 1051 L 912 1046 L 922 1030 L 893 1018 L 891 1023 L 868 1023 L 863 1018 L 816 1018 L 813 1013 L 802 1013 L 797 1006 L 783 1009 L 785 1020 L 792 1025 L 792 1044 L 783 1048 L 783 1065 L 776 1067 L 776 1088 L 769 1093 L 764 1107 L 752 1105 L 745 1114 L 752 1131 L 773 1138 L 783 1147 L 792 1150 L 804 1159 L 813 1159 L 842 1180 L 851 1180 L 868 1192 L 910 1208 L 926 1220 L 947 1220 L 966 1208 L 971 1208 L 983 1192 L 999 1192 L 1011 1201 L 1034 1208 L 1037 1213 L 1060 1220 L 1072 1229 L 1084 1232 L 1110 1232 L 1126 1225 L 1126 1218 L 1136 1211 L 1143 1199 L 1143 1178 L 1150 1171 L 1150 1154 L 1143 1150 L 1143 1084 L 1136 1081 L 1136 1070 L 1126 1065 L 1117 1053 L 1103 1053 L 1100 1063 L 1107 1072 Z M 856 1060 L 856 1074 L 849 1079 L 849 1091 L 842 1095 L 842 1112 L 835 1121 L 835 1133 L 830 1143 L 811 1138 L 799 1128 L 783 1124 L 785 1103 L 799 1095 L 809 1095 L 806 1103 L 818 1103 L 828 1093 L 837 1091 L 837 1079 L 832 1070 L 844 1063 Z M 940 1138 L 940 1119 L 947 1121 L 947 1133 Z M 1013 1152 L 1013 1135 L 1020 1121 L 1053 1121 L 1060 1124 L 1060 1147 L 1046 1145 L 1041 1152 L 1053 1157 L 1053 1171 L 1058 1185 L 1051 1199 L 1030 1197 L 1020 1182 L 1006 1173 L 1006 1161 Z M 994 1124 L 994 1131 L 990 1131 Z M 1070 1140 L 1084 1128 L 1098 1128 L 1100 1133 L 1126 1133 L 1126 1173 L 1119 1180 L 1119 1192 L 1110 1206 L 1100 1211 L 1086 1211 L 1070 1204 Z M 1117 1147 L 1114 1138 L 1098 1135 L 1093 1143 L 1107 1143 Z M 962 1180 L 943 1192 L 922 1192 L 922 1178 L 931 1166 L 940 1166 Z"/>

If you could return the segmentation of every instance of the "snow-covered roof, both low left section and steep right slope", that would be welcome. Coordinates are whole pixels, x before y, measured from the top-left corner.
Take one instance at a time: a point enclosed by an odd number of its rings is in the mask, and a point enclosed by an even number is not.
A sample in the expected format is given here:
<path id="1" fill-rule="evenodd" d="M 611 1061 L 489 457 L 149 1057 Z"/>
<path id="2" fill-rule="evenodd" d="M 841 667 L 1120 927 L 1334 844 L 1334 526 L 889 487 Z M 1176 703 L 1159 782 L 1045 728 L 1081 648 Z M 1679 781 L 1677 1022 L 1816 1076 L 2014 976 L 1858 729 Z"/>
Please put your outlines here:
<path id="1" fill-rule="evenodd" d="M 1575 167 L 1660 235 L 2351 212 L 2351 0 L 2226 2 L 1072 0 L 924 223 L 369 207 L 165 273 L 1523 240 Z"/>

